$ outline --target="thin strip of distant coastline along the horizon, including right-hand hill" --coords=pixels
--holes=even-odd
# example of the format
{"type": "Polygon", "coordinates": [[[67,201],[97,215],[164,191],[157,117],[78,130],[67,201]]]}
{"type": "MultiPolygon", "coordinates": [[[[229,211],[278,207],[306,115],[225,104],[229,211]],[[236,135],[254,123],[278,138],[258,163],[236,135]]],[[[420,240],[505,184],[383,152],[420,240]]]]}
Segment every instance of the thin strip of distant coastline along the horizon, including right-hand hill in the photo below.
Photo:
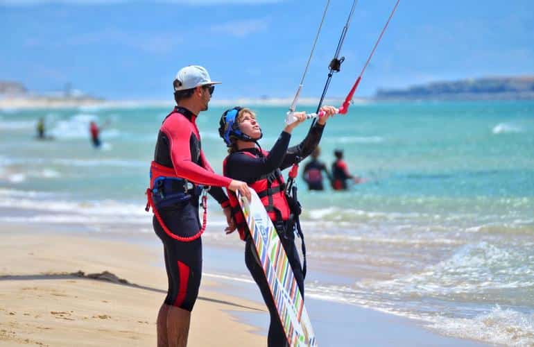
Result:
{"type": "MultiPolygon", "coordinates": [[[[331,97],[326,105],[341,105],[345,97],[331,97]]],[[[379,89],[374,96],[358,97],[356,104],[384,102],[426,102],[426,101],[520,101],[534,100],[534,76],[496,76],[465,78],[456,81],[438,81],[422,85],[412,85],[398,89],[379,89]]],[[[288,97],[236,97],[211,101],[214,106],[278,106],[288,107],[293,96],[288,97]]],[[[314,107],[318,97],[300,98],[298,105],[314,107]]],[[[10,108],[136,108],[143,106],[172,107],[171,96],[165,100],[106,100],[82,92],[43,95],[28,92],[18,82],[0,81],[0,109],[10,108]]]]}

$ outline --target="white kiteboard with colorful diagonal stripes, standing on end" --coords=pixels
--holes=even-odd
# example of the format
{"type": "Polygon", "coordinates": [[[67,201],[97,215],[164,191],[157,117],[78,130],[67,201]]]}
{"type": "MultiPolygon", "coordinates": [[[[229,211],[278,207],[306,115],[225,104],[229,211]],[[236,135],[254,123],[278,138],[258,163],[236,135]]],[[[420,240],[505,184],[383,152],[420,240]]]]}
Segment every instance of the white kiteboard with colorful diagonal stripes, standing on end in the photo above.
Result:
{"type": "Polygon", "coordinates": [[[275,226],[256,192],[250,189],[250,194],[249,203],[238,193],[239,205],[252,233],[289,346],[317,346],[304,300],[275,226]]]}

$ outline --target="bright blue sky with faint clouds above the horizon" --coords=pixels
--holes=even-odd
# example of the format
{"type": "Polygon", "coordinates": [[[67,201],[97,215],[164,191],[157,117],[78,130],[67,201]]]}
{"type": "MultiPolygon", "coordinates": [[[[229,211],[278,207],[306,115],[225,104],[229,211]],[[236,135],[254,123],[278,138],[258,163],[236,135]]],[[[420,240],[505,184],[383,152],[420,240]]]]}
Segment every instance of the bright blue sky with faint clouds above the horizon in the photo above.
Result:
{"type": "MultiPolygon", "coordinates": [[[[203,65],[215,98],[291,97],[327,1],[0,0],[0,81],[66,83],[106,99],[172,99],[178,69],[203,65]]],[[[330,97],[359,75],[394,0],[359,0],[330,97]]],[[[331,0],[302,96],[318,97],[352,0],[331,0]]],[[[401,0],[356,96],[379,88],[534,75],[534,1],[401,0]]]]}

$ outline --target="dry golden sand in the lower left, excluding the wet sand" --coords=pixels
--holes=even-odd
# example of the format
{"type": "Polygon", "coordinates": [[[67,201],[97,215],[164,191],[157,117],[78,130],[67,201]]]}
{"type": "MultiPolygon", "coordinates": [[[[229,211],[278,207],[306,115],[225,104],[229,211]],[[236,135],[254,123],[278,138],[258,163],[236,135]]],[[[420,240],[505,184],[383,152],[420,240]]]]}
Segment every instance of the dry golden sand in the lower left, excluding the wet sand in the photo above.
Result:
{"type": "MultiPolygon", "coordinates": [[[[155,319],[166,292],[164,271],[151,265],[158,254],[31,228],[2,227],[0,239],[0,346],[155,346],[155,319]],[[72,274],[77,271],[108,271],[128,284],[72,274]]],[[[263,346],[264,337],[229,312],[264,307],[216,293],[213,285],[203,280],[189,346],[263,346]]]]}

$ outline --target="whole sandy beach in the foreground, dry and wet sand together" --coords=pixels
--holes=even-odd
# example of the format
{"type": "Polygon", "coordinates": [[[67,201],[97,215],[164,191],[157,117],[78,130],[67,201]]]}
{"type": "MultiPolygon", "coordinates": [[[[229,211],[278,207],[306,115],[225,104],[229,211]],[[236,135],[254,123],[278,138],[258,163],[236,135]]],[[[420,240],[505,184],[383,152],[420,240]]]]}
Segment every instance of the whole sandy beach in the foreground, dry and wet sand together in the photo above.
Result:
{"type": "MultiPolygon", "coordinates": [[[[2,226],[0,346],[155,346],[166,276],[147,239],[2,226]]],[[[221,249],[205,247],[208,262],[228,255],[221,249]]],[[[253,282],[205,273],[188,346],[265,346],[259,301],[253,282]]],[[[355,305],[309,298],[307,307],[322,346],[482,346],[355,305]]]]}

